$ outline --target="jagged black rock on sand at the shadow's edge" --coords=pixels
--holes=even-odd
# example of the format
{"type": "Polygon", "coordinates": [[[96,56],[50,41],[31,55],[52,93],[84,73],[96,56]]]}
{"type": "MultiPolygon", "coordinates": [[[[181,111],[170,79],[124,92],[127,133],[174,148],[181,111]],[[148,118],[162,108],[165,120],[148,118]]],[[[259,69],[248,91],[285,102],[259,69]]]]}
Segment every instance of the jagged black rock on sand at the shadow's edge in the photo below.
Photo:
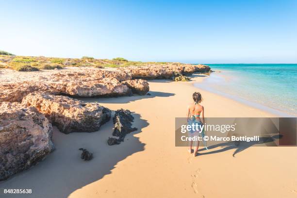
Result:
{"type": "Polygon", "coordinates": [[[113,135],[119,137],[120,141],[124,141],[126,134],[137,130],[137,128],[132,128],[133,119],[134,117],[129,110],[119,109],[115,111],[113,135]]]}

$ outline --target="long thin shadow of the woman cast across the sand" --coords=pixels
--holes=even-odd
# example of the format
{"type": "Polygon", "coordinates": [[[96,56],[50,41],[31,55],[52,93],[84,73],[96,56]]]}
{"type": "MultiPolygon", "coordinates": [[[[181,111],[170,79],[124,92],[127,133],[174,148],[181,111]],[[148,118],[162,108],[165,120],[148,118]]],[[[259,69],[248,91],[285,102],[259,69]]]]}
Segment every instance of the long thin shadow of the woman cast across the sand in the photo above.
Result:
{"type": "MultiPolygon", "coordinates": [[[[209,155],[209,154],[214,154],[214,153],[219,153],[219,152],[224,152],[230,149],[235,149],[235,151],[233,152],[233,157],[235,157],[235,154],[249,148],[252,146],[260,146],[260,144],[264,144],[263,146],[276,146],[275,144],[275,140],[280,139],[282,136],[281,135],[274,135],[274,136],[270,136],[270,137],[260,137],[259,141],[250,141],[250,142],[246,142],[246,141],[231,141],[231,142],[224,142],[224,143],[220,143],[220,144],[216,144],[216,145],[212,145],[207,147],[208,149],[213,149],[213,148],[218,148],[221,147],[221,149],[218,150],[213,150],[213,151],[208,151],[208,152],[204,152],[204,153],[198,153],[198,155],[209,155]]],[[[198,149],[199,151],[203,151],[206,150],[206,148],[201,148],[198,149]]]]}

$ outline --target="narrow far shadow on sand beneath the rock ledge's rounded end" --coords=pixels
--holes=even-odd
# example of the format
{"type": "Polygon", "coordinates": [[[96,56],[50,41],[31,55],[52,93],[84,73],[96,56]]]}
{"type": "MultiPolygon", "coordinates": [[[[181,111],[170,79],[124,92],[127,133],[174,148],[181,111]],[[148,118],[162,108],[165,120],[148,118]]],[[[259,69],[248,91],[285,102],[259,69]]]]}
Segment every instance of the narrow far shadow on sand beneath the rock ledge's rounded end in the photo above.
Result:
{"type": "Polygon", "coordinates": [[[123,97],[118,97],[118,98],[77,97],[75,99],[79,99],[84,102],[124,104],[124,103],[129,103],[132,101],[136,101],[139,99],[150,99],[150,98],[155,98],[155,97],[170,97],[170,96],[175,95],[173,93],[166,93],[166,92],[159,92],[159,91],[149,91],[148,93],[150,95],[139,96],[139,95],[134,94],[133,96],[123,96],[123,97]]]}

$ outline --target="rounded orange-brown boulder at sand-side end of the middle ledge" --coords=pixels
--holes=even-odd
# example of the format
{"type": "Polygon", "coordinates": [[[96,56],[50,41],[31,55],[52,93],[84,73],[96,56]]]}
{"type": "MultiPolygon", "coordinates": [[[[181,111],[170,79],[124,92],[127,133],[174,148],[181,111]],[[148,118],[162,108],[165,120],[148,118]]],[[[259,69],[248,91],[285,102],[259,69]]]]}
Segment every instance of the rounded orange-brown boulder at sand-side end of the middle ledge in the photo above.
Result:
{"type": "Polygon", "coordinates": [[[133,94],[146,95],[149,91],[148,82],[142,79],[128,80],[122,83],[131,88],[133,94]]]}

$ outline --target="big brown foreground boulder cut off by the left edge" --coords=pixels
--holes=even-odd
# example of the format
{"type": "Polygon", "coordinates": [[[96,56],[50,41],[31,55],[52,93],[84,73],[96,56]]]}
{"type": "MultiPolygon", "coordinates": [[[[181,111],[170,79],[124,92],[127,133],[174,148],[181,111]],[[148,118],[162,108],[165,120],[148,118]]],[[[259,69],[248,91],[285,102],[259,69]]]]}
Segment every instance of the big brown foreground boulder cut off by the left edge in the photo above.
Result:
{"type": "Polygon", "coordinates": [[[0,103],[0,181],[35,165],[53,149],[49,120],[35,107],[0,103]]]}

